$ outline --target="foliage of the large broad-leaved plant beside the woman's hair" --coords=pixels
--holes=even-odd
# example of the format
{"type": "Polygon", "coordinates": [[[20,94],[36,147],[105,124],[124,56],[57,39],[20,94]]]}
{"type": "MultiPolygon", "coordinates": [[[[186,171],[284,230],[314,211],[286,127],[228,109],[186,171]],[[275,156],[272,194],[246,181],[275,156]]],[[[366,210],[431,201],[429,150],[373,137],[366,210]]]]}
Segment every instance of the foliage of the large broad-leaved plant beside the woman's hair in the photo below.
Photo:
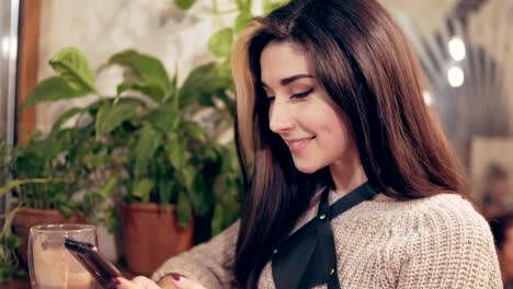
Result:
{"type": "Polygon", "coordinates": [[[176,74],[169,78],[157,58],[125,50],[102,67],[124,67],[116,95],[99,92],[86,57],[76,48],[57,53],[50,65],[58,76],[41,82],[24,106],[96,95],[90,105],[67,111],[50,132],[77,131],[75,154],[80,158],[73,164],[81,169],[81,178],[103,173],[103,187],[90,189],[83,198],[93,217],[115,190],[123,193],[124,204],[163,205],[159,210],[172,205],[181,227],[193,216],[213,212],[212,228],[218,232],[237,218],[240,190],[233,143],[218,142],[223,128],[232,123],[235,107],[227,94],[231,81],[225,63],[197,67],[179,85],[176,74]],[[206,108],[214,125],[194,120],[206,108]],[[71,128],[62,128],[71,118],[77,118],[71,128]]]}

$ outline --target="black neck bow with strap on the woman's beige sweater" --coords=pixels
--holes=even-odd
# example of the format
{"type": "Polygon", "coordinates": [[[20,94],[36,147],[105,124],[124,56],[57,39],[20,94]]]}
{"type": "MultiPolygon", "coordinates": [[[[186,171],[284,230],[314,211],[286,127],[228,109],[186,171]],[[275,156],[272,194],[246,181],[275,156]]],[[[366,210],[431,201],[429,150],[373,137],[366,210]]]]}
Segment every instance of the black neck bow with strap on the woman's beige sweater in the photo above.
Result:
{"type": "Polygon", "coordinates": [[[340,288],[337,251],[330,221],[364,200],[377,195],[368,182],[352,190],[331,207],[327,187],[317,217],[278,243],[272,256],[273,278],[277,289],[311,288],[328,284],[340,288]]]}

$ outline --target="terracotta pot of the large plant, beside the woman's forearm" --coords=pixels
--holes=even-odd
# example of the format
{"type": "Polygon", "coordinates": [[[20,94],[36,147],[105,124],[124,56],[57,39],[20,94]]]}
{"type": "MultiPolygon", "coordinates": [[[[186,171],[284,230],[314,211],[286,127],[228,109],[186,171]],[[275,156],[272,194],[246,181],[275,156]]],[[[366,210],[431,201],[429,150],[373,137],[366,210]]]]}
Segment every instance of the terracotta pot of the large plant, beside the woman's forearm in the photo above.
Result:
{"type": "Polygon", "coordinates": [[[122,204],[123,241],[128,269],[150,276],[168,258],[193,245],[194,221],[179,226],[175,206],[122,204]]]}

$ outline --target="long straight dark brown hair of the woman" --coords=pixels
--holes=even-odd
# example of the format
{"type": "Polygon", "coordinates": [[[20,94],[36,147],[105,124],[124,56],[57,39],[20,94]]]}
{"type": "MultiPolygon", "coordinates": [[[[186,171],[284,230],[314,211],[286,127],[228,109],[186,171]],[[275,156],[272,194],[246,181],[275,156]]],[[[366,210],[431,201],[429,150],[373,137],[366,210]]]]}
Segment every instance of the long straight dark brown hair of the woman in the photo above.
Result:
{"type": "Polygon", "coordinates": [[[269,128],[260,56],[270,43],[300,47],[317,81],[350,119],[368,180],[398,199],[467,193],[466,178],[423,101],[408,41],[375,0],[297,0],[253,20],[233,49],[236,138],[247,183],[236,250],[239,285],[256,287],[273,246],[289,234],[328,169],[298,172],[269,128]]]}

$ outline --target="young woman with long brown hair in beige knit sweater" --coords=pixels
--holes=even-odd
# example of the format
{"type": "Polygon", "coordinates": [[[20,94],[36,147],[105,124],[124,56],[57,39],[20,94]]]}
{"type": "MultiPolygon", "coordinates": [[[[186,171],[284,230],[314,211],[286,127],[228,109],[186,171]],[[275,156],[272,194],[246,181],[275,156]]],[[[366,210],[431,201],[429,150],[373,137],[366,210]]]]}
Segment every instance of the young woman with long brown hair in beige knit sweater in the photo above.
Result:
{"type": "MultiPolygon", "coordinates": [[[[153,275],[176,288],[500,288],[486,220],[375,0],[296,0],[233,49],[240,221],[153,275]]],[[[157,288],[138,277],[121,288],[157,288]]]]}

